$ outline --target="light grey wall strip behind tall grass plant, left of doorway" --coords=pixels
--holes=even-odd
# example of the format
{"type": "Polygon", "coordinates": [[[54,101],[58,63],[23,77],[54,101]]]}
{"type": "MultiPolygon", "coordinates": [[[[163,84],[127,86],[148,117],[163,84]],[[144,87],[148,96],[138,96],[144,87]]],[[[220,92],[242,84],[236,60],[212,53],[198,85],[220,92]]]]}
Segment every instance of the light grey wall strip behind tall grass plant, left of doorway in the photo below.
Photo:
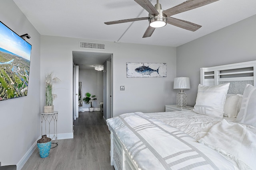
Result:
{"type": "MultiPolygon", "coordinates": [[[[41,111],[44,111],[44,79],[47,72],[54,72],[61,82],[55,85],[54,110],[58,111],[58,139],[62,135],[73,137],[73,60],[72,47],[76,41],[66,41],[64,37],[41,35],[41,111]]],[[[64,137],[66,138],[66,137],[64,137]]]]}

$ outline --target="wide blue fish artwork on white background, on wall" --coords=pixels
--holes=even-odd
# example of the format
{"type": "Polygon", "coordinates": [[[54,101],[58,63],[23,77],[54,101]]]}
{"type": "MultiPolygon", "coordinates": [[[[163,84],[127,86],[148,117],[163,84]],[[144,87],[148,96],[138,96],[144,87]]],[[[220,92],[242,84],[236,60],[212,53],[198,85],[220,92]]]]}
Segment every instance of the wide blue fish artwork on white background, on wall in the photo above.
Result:
{"type": "Polygon", "coordinates": [[[166,63],[126,63],[127,77],[166,77],[166,63]]]}

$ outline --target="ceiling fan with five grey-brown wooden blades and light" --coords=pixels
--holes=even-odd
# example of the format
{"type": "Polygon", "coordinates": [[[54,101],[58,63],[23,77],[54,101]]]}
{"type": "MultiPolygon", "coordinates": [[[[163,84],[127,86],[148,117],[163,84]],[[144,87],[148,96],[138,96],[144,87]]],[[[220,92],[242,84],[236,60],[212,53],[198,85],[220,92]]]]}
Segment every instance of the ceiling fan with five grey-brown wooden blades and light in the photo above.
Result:
{"type": "Polygon", "coordinates": [[[137,2],[142,8],[144,8],[148,12],[148,17],[116,20],[116,21],[109,21],[104,23],[107,25],[111,25],[116,23],[148,20],[149,25],[142,38],[150,37],[156,28],[164,27],[166,23],[175,25],[183,29],[187,29],[189,31],[196,31],[202,26],[189,21],[172,18],[170,16],[173,16],[175,14],[179,14],[181,12],[185,12],[188,10],[192,10],[192,9],[210,4],[212,2],[216,2],[218,0],[187,0],[186,2],[183,2],[172,8],[169,8],[168,10],[162,10],[162,6],[161,4],[159,4],[159,0],[157,0],[155,6],[153,6],[149,0],[134,0],[134,1],[137,2]]]}

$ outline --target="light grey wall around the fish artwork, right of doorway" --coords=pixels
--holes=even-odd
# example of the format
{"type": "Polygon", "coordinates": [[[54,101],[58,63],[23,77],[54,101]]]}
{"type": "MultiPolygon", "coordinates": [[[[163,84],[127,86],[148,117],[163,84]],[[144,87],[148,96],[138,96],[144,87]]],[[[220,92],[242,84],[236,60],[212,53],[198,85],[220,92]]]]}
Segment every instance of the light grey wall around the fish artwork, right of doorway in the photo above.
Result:
{"type": "Polygon", "coordinates": [[[153,45],[116,44],[113,52],[113,115],[142,111],[164,111],[176,103],[176,48],[153,45]],[[127,78],[126,63],[166,63],[167,77],[127,78]],[[120,91],[125,86],[125,91],[120,91]]]}

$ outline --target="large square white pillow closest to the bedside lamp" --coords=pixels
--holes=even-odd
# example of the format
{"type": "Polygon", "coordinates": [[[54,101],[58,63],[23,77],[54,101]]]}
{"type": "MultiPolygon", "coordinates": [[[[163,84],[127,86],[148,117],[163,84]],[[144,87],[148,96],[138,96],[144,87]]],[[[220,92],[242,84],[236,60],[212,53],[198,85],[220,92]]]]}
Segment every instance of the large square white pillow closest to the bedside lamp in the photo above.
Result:
{"type": "Polygon", "coordinates": [[[224,103],[230,83],[216,86],[198,85],[196,105],[193,111],[198,114],[212,117],[223,117],[224,103]]]}

